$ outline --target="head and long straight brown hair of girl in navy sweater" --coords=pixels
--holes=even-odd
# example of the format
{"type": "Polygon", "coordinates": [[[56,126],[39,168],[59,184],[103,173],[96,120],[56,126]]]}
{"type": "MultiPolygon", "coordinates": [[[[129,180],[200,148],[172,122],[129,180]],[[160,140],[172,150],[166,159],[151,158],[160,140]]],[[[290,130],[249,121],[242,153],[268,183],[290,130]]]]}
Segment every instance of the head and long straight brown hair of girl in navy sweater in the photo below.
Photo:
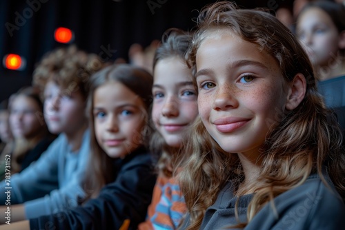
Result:
{"type": "MultiPolygon", "coordinates": [[[[132,158],[136,154],[131,153],[138,149],[147,152],[148,109],[152,102],[148,87],[152,82],[152,76],[140,67],[121,64],[92,76],[90,95],[93,98],[90,96],[88,100],[92,154],[84,182],[91,198],[97,197],[104,185],[123,179],[124,175],[118,175],[119,169],[114,167],[114,159],[116,162],[132,158]]],[[[137,179],[131,179],[133,187],[137,179]]]]}

